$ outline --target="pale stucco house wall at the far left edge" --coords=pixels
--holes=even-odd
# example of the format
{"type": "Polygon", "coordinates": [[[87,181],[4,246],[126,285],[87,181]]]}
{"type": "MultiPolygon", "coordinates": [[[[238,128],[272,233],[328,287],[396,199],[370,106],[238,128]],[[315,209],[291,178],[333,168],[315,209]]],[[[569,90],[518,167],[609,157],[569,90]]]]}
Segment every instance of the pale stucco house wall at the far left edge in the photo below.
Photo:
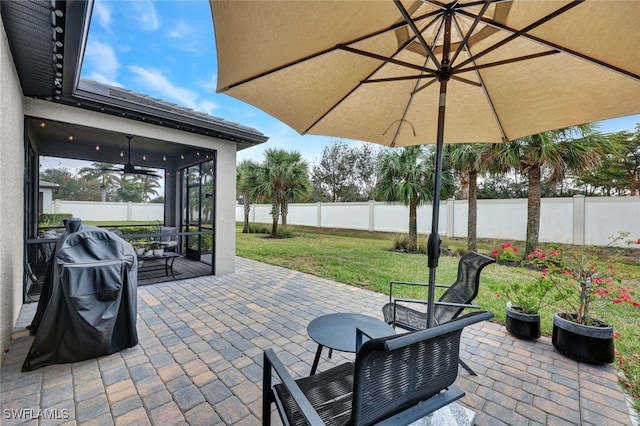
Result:
{"type": "Polygon", "coordinates": [[[24,110],[0,20],[0,357],[22,306],[24,110]]]}

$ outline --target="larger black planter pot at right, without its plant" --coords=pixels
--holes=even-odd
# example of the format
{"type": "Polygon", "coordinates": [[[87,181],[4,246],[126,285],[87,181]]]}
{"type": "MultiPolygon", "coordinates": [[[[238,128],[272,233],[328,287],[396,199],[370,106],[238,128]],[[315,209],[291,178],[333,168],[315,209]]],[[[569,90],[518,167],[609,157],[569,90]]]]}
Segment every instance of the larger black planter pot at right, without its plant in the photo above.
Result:
{"type": "Polygon", "coordinates": [[[553,346],[558,352],[587,364],[611,364],[614,360],[613,327],[593,327],[570,321],[574,314],[553,316],[553,346]]]}

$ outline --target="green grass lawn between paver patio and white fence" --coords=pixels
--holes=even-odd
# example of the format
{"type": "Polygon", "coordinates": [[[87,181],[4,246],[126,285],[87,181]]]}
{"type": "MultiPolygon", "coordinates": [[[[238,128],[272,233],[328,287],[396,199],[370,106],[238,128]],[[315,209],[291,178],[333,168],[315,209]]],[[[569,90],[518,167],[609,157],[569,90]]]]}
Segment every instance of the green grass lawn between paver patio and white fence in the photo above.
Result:
{"type": "MultiPolygon", "coordinates": [[[[289,228],[293,230],[293,238],[271,239],[265,238],[265,234],[242,234],[242,228],[238,226],[236,254],[384,294],[388,294],[390,280],[428,280],[425,255],[389,250],[392,234],[310,227],[289,228]]],[[[478,251],[489,255],[502,242],[479,241],[478,251]]],[[[466,240],[445,238],[443,246],[453,252],[463,252],[466,240]]],[[[524,248],[524,244],[520,243],[520,247],[524,248]]],[[[636,250],[636,255],[625,258],[624,262],[616,268],[635,277],[632,294],[636,300],[640,300],[640,250],[636,250]]],[[[457,265],[458,257],[441,257],[437,269],[438,283],[453,283],[457,265]]],[[[482,285],[476,303],[482,309],[493,312],[496,321],[504,323],[506,301],[497,296],[501,293],[500,289],[515,280],[536,276],[538,272],[525,268],[489,265],[482,272],[482,285]]],[[[418,294],[411,296],[425,297],[418,294]]],[[[545,335],[551,335],[555,311],[557,309],[548,307],[541,312],[545,335]]],[[[620,333],[616,340],[616,351],[619,352],[616,365],[621,375],[620,382],[634,396],[635,406],[640,409],[640,309],[624,306],[612,312],[607,320],[620,333]]]]}

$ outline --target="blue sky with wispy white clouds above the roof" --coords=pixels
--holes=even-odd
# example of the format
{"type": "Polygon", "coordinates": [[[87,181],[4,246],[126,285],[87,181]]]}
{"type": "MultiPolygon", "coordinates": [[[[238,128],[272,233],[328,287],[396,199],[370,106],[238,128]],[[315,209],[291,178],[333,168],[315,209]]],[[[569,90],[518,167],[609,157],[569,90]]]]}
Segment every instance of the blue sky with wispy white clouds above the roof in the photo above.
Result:
{"type": "MultiPolygon", "coordinates": [[[[259,109],[217,94],[216,73],[207,1],[95,1],[82,78],[235,121],[270,137],[266,144],[240,151],[238,160],[261,160],[264,149],[283,148],[300,151],[313,163],[322,148],[335,140],[302,137],[259,109]]],[[[640,115],[602,122],[600,129],[633,130],[636,123],[640,115]]]]}

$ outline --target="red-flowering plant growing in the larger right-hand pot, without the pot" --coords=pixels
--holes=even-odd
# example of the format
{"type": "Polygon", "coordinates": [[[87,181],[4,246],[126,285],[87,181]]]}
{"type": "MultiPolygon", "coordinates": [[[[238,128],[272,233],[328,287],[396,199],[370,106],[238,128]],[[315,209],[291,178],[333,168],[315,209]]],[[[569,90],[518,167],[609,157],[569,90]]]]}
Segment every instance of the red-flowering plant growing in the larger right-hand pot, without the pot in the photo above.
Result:
{"type": "MultiPolygon", "coordinates": [[[[609,238],[607,249],[620,246],[628,233],[620,232],[609,238]]],[[[636,241],[627,240],[628,245],[636,241]]],[[[634,299],[638,280],[619,274],[615,264],[621,249],[597,250],[596,247],[577,248],[569,255],[560,250],[543,252],[536,249],[528,257],[531,265],[543,267],[543,274],[554,284],[554,299],[562,302],[566,311],[559,313],[566,320],[594,327],[605,325],[602,321],[612,307],[640,308],[634,299]],[[602,253],[610,253],[602,257],[602,253]],[[635,286],[635,289],[634,289],[635,286]]]]}

